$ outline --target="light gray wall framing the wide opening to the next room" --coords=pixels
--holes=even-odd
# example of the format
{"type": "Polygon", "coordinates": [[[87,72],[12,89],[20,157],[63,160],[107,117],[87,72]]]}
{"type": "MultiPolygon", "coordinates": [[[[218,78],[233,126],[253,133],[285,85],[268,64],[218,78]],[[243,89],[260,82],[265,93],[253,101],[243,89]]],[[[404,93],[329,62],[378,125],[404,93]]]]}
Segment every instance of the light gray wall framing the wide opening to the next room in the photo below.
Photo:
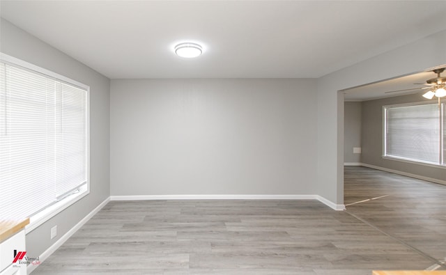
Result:
{"type": "Polygon", "coordinates": [[[445,49],[446,30],[318,79],[317,194],[344,202],[344,95],[339,91],[446,64],[445,49]]]}

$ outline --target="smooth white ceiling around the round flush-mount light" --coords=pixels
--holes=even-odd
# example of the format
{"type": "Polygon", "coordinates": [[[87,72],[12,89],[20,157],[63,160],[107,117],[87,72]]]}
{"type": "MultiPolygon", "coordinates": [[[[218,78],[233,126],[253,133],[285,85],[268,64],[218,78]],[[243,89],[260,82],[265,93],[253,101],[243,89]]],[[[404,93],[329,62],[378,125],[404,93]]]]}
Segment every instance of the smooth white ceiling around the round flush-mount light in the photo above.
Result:
{"type": "Polygon", "coordinates": [[[0,1],[111,79],[321,77],[445,29],[446,1],[0,1]],[[177,42],[204,47],[179,58],[177,42]]]}

